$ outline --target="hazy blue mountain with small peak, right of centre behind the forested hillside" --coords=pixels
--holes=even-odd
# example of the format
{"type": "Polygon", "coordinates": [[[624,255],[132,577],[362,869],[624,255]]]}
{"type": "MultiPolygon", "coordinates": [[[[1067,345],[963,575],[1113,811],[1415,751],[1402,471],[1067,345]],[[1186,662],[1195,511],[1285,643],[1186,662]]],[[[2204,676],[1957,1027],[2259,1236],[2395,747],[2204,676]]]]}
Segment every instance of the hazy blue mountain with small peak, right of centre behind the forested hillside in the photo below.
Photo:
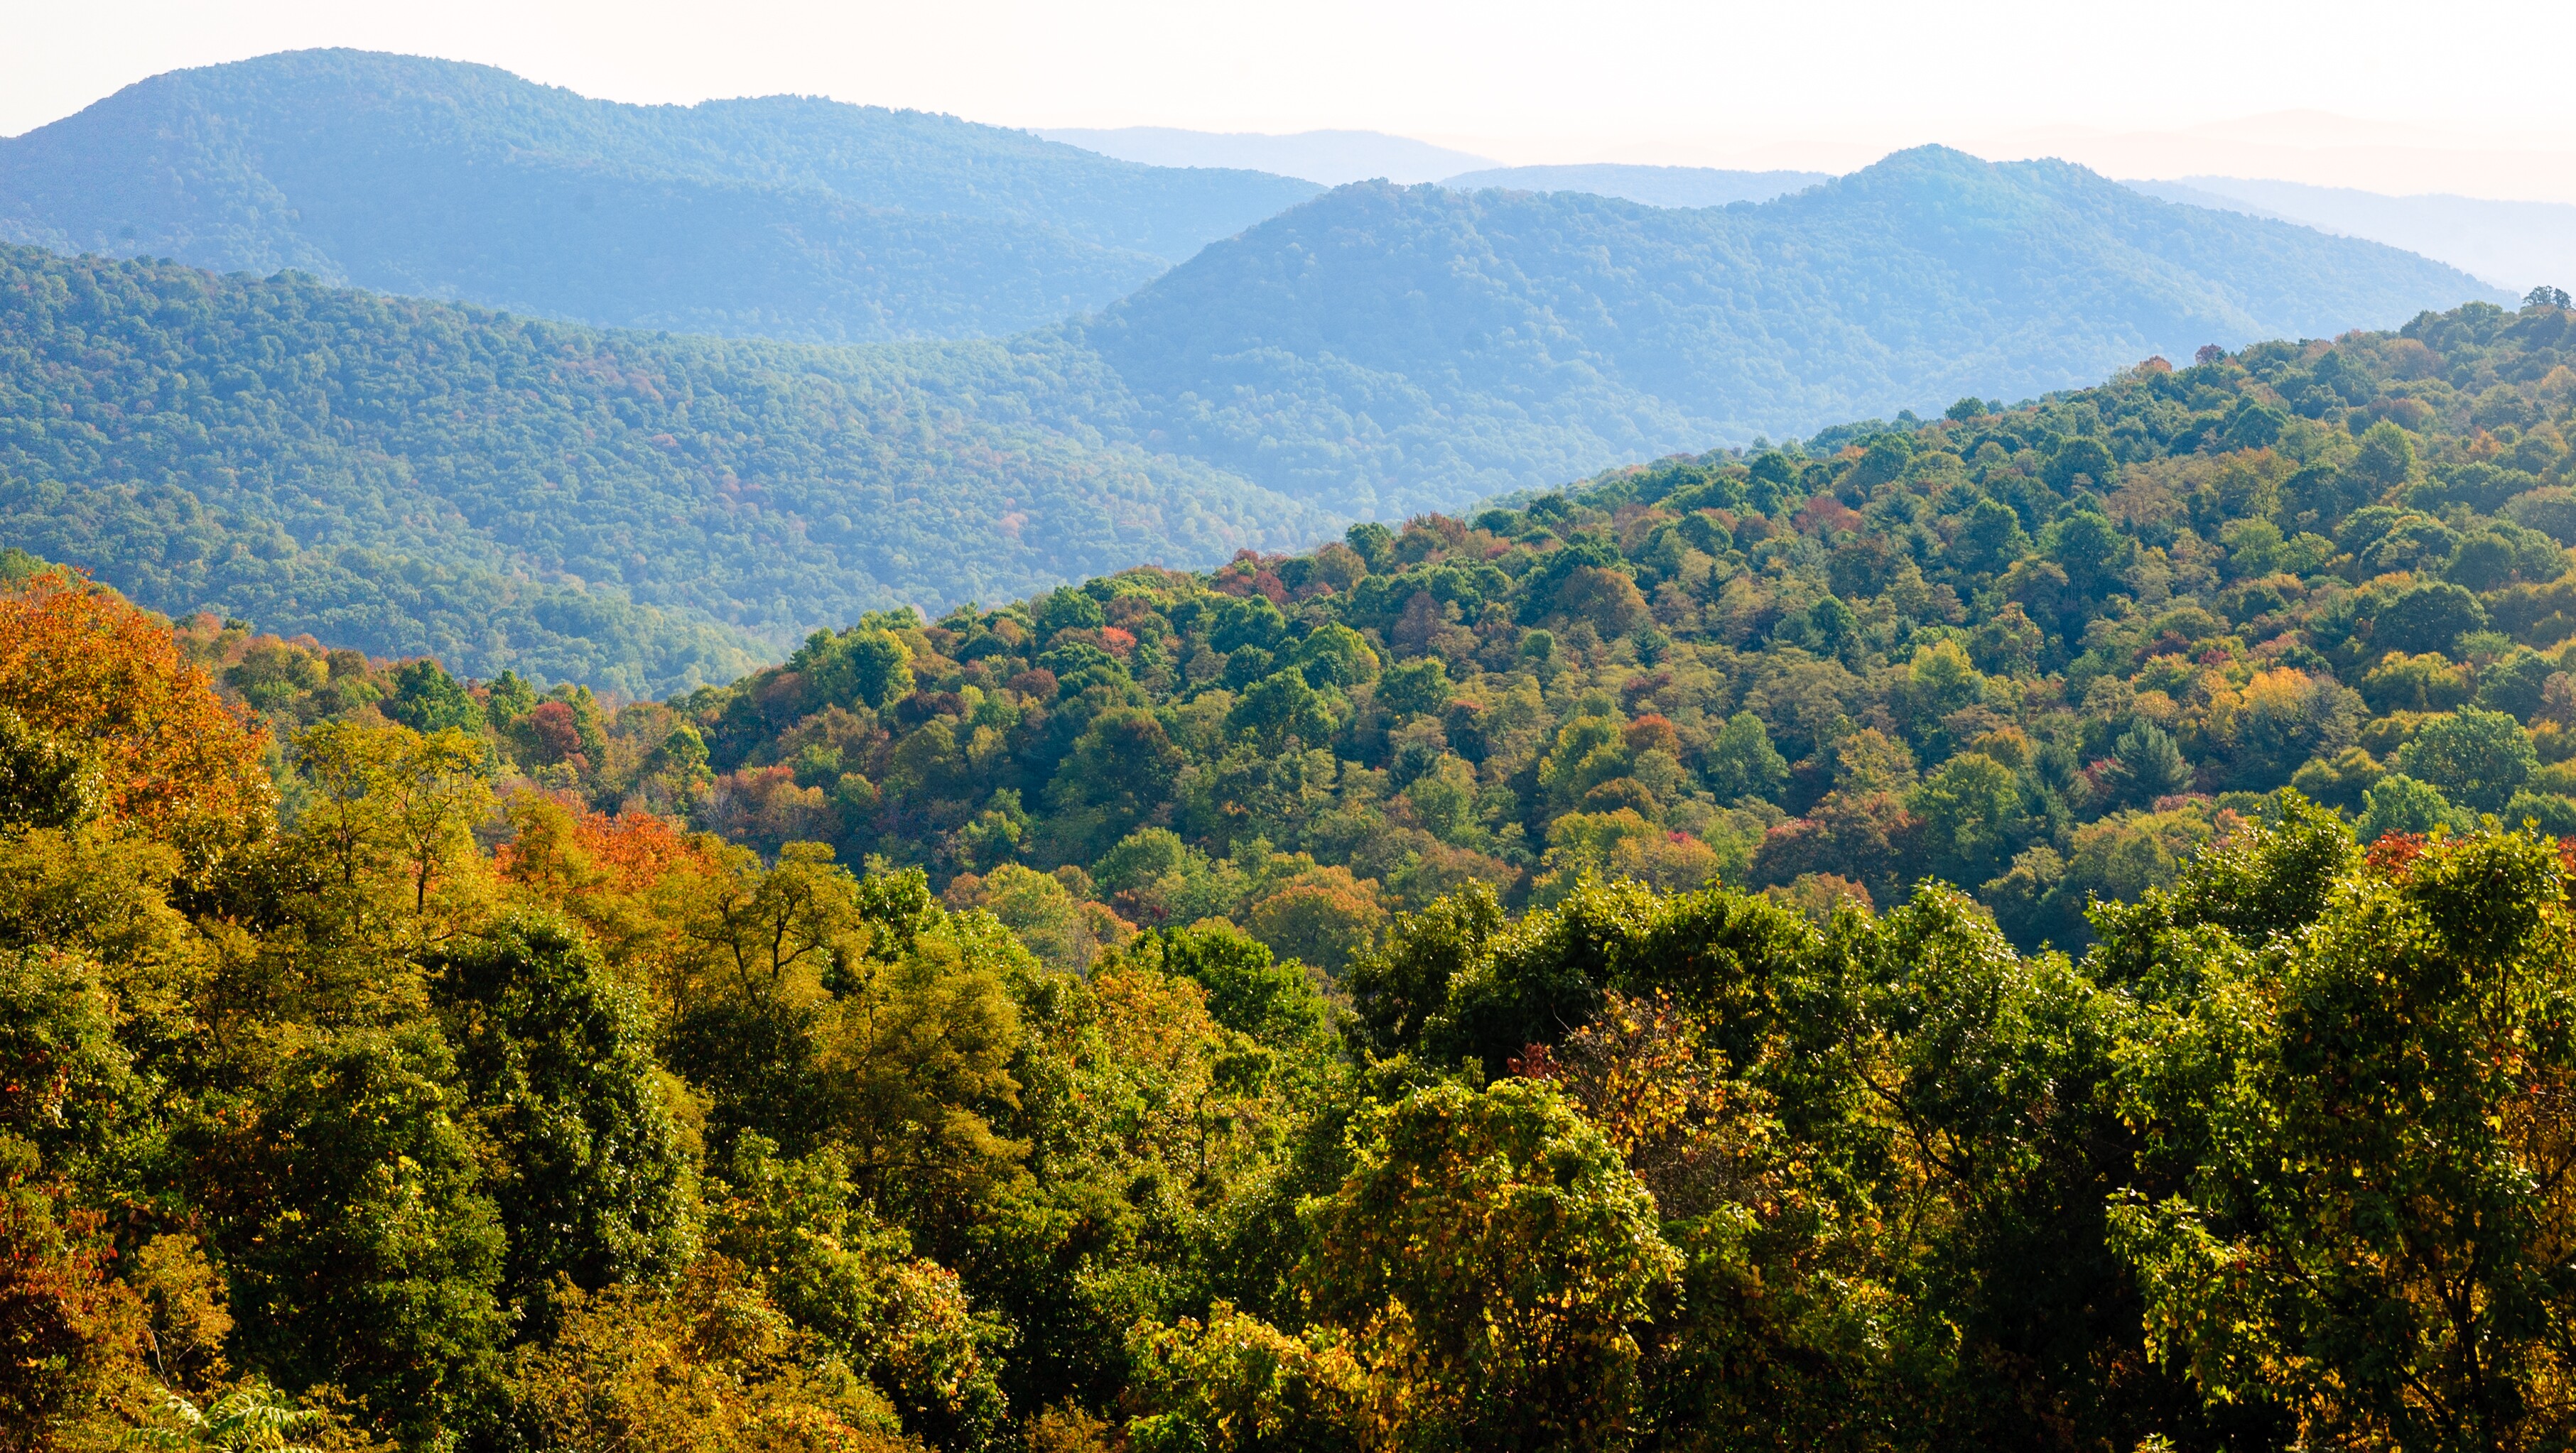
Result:
{"type": "Polygon", "coordinates": [[[2468,273],[1922,147],[1762,206],[1347,185],[1074,327],[1133,428],[1345,515],[1620,459],[2030,397],[2205,343],[2331,337],[2468,273]]]}

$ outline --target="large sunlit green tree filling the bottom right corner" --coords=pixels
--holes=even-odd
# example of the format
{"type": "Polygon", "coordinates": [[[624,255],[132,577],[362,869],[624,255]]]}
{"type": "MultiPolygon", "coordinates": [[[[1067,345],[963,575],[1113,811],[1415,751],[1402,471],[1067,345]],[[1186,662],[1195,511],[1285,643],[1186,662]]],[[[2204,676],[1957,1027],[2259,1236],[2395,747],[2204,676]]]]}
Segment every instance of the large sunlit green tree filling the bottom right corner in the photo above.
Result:
{"type": "Polygon", "coordinates": [[[2563,871],[2522,835],[2344,878],[2277,958],[2208,961],[2141,1025],[2136,1110],[2190,1149],[2117,1247],[2148,1345],[2303,1443],[2548,1448],[2576,1288],[2563,871]]]}

